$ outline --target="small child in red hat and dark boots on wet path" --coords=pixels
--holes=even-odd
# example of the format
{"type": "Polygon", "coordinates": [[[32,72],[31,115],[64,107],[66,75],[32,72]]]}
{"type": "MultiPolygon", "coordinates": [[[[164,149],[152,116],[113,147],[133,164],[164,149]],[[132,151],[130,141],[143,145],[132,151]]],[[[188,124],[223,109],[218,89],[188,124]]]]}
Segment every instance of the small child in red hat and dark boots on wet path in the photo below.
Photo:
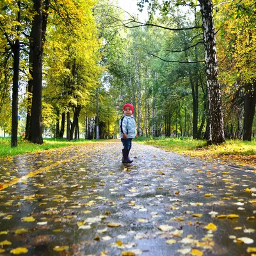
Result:
{"type": "Polygon", "coordinates": [[[132,116],[132,104],[124,104],[123,113],[124,116],[119,120],[120,138],[124,146],[124,148],[122,149],[122,163],[132,163],[133,160],[129,158],[129,152],[132,147],[132,139],[137,138],[135,127],[136,124],[134,117],[132,116]]]}

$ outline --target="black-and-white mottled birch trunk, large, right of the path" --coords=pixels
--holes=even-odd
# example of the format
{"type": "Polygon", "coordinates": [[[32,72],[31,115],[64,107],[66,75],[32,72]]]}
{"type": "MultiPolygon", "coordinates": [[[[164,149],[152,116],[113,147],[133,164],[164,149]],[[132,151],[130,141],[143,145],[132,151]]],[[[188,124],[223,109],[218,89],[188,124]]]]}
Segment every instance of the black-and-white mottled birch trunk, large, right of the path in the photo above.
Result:
{"type": "Polygon", "coordinates": [[[202,29],[205,45],[205,68],[209,102],[209,140],[208,144],[218,144],[225,141],[223,113],[221,106],[221,90],[218,81],[218,65],[216,38],[212,17],[212,1],[199,0],[202,13],[202,29]]]}

